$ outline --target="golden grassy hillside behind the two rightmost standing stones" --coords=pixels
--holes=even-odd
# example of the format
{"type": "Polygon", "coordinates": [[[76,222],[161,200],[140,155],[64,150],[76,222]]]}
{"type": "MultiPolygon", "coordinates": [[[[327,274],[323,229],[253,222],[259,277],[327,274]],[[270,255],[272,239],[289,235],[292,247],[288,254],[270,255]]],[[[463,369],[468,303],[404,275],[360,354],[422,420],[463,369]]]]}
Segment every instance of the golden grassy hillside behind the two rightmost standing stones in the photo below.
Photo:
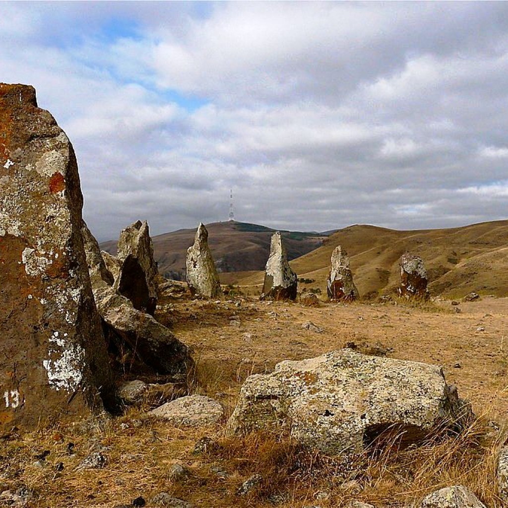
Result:
{"type": "MultiPolygon", "coordinates": [[[[433,295],[461,296],[477,291],[508,296],[508,220],[462,228],[394,231],[375,226],[338,230],[323,246],[291,263],[299,277],[315,279],[308,288],[326,288],[330,256],[342,245],[351,257],[362,295],[383,293],[399,282],[398,261],[405,251],[423,258],[433,295]]],[[[263,273],[230,274],[228,282],[261,283],[263,273]]]]}

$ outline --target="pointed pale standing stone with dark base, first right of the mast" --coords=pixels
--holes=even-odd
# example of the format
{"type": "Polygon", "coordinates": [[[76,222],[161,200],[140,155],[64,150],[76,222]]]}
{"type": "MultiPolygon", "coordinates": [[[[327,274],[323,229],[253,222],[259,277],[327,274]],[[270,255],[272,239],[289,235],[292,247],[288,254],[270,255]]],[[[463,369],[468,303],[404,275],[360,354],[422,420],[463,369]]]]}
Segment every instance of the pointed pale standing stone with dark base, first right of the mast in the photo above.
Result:
{"type": "Polygon", "coordinates": [[[272,235],[270,243],[261,299],[295,300],[297,287],[296,273],[289,266],[282,237],[277,231],[272,235]]]}

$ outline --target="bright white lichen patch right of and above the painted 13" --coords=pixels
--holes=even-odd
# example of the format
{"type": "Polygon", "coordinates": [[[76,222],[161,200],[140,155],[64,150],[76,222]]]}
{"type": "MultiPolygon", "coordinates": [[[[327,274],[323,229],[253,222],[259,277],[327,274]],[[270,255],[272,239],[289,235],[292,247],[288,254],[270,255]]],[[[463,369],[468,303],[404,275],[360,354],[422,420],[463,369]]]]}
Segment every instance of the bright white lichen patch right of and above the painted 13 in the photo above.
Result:
{"type": "Polygon", "coordinates": [[[50,347],[49,356],[59,358],[43,360],[42,364],[48,374],[49,385],[56,391],[75,392],[83,379],[85,352],[78,344],[67,343],[68,334],[53,332],[49,341],[56,344],[60,351],[50,347]]]}

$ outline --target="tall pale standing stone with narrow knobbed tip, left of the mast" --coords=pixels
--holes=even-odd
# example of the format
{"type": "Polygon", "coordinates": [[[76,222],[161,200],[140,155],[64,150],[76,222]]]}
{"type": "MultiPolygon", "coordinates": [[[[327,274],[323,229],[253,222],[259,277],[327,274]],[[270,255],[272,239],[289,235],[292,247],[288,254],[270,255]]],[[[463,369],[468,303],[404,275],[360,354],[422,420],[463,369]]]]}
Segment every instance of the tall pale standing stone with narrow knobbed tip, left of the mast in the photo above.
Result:
{"type": "Polygon", "coordinates": [[[199,223],[194,245],[187,249],[187,284],[192,295],[217,298],[223,294],[219,276],[208,246],[208,231],[199,223]]]}

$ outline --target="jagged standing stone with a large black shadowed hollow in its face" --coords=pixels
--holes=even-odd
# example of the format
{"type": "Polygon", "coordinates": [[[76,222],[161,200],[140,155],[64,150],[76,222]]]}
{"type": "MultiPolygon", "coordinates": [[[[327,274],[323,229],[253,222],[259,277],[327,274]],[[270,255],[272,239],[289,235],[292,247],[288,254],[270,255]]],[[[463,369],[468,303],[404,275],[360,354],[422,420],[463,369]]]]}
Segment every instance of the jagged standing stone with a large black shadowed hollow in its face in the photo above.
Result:
{"type": "Polygon", "coordinates": [[[152,314],[157,305],[157,264],[146,220],[125,228],[118,239],[120,273],[115,289],[129,298],[134,308],[152,314]]]}

